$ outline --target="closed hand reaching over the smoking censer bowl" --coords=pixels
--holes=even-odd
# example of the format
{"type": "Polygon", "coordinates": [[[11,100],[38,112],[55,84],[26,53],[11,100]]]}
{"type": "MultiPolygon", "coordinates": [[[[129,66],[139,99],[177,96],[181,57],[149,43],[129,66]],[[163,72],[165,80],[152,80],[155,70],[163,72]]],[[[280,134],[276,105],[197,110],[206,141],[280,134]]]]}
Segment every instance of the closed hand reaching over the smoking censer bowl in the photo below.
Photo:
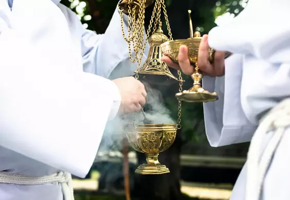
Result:
{"type": "Polygon", "coordinates": [[[145,86],[136,78],[124,77],[114,79],[121,93],[121,105],[118,114],[140,111],[146,103],[145,86]]]}

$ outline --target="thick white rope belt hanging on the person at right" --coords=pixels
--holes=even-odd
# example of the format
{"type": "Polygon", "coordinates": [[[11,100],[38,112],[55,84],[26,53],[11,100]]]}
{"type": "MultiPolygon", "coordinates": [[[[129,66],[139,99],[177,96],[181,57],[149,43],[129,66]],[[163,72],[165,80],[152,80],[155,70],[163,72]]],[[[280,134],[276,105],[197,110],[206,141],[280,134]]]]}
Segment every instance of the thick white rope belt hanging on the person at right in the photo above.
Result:
{"type": "Polygon", "coordinates": [[[260,199],[266,171],[285,133],[285,129],[289,126],[290,99],[285,99],[262,119],[250,143],[247,157],[245,200],[260,199]],[[261,153],[263,139],[269,131],[274,131],[274,135],[261,153]]]}

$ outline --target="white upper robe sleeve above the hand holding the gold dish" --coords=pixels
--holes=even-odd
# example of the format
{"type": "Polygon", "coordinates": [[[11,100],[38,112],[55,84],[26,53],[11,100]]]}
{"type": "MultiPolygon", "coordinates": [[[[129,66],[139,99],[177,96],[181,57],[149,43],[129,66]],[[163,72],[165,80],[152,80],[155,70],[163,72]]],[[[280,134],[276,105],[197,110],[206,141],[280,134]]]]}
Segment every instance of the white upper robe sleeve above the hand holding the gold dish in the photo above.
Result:
{"type": "Polygon", "coordinates": [[[290,53],[290,27],[282,19],[290,17],[289,8],[287,0],[248,1],[229,24],[210,30],[209,46],[218,51],[254,55],[270,63],[288,63],[290,56],[285,55],[290,53]],[[269,31],[269,27],[279,28],[269,31]]]}

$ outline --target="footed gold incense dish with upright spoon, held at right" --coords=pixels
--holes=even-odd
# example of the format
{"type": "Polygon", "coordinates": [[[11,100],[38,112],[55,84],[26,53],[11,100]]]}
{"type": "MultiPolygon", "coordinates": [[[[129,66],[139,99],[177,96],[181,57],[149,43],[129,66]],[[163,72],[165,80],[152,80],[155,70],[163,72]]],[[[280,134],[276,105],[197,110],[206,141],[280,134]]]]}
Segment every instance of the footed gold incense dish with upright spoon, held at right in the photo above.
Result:
{"type": "MultiPolygon", "coordinates": [[[[182,45],[188,48],[188,58],[190,64],[194,66],[195,72],[191,75],[194,85],[189,90],[180,91],[176,94],[176,97],[180,101],[185,102],[212,102],[218,99],[218,94],[216,92],[209,92],[201,87],[201,80],[203,75],[199,71],[198,67],[198,51],[201,42],[201,34],[199,31],[194,33],[192,28],[192,21],[190,16],[191,11],[188,10],[189,15],[189,29],[190,38],[188,39],[177,39],[175,41],[169,41],[161,44],[161,50],[164,55],[170,57],[173,62],[178,63],[179,48],[182,45]]],[[[215,50],[209,48],[208,50],[208,61],[212,63],[214,61],[215,50]]],[[[225,57],[228,57],[230,53],[226,53],[225,57]]]]}

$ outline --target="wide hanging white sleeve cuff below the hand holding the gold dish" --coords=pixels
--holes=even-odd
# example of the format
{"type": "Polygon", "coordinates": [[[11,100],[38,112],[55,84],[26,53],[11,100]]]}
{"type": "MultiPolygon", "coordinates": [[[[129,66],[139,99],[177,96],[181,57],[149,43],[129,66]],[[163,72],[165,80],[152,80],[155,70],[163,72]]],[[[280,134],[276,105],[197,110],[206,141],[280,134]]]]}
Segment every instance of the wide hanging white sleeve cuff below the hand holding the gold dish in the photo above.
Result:
{"type": "Polygon", "coordinates": [[[241,106],[242,64],[243,56],[234,54],[226,59],[225,76],[203,78],[203,87],[219,95],[218,101],[204,103],[206,135],[213,147],[248,142],[256,129],[241,106]]]}

